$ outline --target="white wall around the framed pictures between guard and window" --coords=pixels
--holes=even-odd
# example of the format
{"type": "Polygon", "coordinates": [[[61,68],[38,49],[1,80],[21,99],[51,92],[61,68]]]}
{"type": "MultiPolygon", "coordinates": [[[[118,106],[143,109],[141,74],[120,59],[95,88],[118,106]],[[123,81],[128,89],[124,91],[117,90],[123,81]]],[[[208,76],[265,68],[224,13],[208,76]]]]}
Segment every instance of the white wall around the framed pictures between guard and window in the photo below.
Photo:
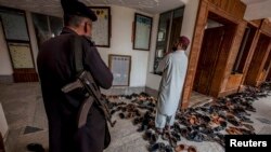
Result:
{"type": "MultiPolygon", "coordinates": [[[[106,64],[109,54],[131,55],[130,86],[145,86],[149,51],[132,50],[132,23],[136,10],[112,5],[112,39],[111,47],[99,47],[99,53],[106,64]]],[[[137,13],[142,13],[137,11],[137,13]]],[[[145,14],[145,13],[142,13],[145,14]]],[[[151,16],[150,14],[145,14],[151,16]]],[[[95,30],[95,29],[93,29],[95,30]]],[[[151,47],[153,50],[153,47],[151,47]]]]}

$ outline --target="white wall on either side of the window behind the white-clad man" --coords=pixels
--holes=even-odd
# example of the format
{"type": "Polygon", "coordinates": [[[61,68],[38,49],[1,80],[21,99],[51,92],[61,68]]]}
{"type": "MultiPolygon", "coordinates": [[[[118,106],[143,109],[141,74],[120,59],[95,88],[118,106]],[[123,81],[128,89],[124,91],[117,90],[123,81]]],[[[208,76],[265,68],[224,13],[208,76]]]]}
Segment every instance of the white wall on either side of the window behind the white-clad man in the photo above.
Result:
{"type": "MultiPolygon", "coordinates": [[[[192,42],[199,0],[181,0],[181,1],[185,3],[185,8],[184,8],[182,29],[181,29],[180,36],[186,36],[192,42]]],[[[158,23],[158,15],[155,15],[155,19],[158,23]]],[[[156,45],[157,27],[156,27],[155,32],[153,32],[153,34],[155,34],[153,36],[155,37],[155,41],[152,44],[153,47],[151,50],[151,54],[149,58],[150,66],[149,66],[149,72],[146,75],[146,86],[154,88],[154,89],[158,89],[162,77],[152,73],[153,64],[154,64],[155,45],[156,45]]],[[[188,47],[188,51],[186,51],[188,55],[190,53],[190,50],[191,50],[191,45],[188,47]]]]}

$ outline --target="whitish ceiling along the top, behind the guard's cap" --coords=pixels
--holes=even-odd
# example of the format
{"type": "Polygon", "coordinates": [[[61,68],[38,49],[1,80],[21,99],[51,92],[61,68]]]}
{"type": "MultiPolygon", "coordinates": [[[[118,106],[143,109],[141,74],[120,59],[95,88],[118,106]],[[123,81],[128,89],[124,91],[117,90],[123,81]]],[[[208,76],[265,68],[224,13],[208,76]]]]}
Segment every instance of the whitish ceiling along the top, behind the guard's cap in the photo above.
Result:
{"type": "MultiPolygon", "coordinates": [[[[150,14],[158,14],[183,5],[185,0],[79,0],[86,5],[121,5],[150,14]]],[[[62,15],[60,0],[0,0],[0,5],[38,12],[49,15],[62,15]]]]}

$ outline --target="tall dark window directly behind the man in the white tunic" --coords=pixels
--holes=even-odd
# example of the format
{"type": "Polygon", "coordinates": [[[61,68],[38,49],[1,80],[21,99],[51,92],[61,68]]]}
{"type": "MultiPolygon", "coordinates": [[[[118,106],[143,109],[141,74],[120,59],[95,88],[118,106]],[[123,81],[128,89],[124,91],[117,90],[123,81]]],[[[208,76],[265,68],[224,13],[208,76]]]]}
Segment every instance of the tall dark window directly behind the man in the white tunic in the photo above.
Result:
{"type": "Polygon", "coordinates": [[[154,58],[154,73],[159,61],[173,45],[173,41],[180,36],[182,28],[184,8],[162,13],[157,31],[156,51],[154,58]]]}

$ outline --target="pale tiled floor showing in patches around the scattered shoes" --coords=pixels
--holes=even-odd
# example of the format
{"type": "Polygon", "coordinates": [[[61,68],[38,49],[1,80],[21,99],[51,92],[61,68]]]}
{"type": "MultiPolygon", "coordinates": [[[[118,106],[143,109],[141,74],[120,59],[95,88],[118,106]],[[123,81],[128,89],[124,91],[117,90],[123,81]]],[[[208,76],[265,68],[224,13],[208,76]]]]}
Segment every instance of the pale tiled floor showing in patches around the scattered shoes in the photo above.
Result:
{"type": "MultiPolygon", "coordinates": [[[[121,89],[127,94],[144,91],[143,88],[121,89]]],[[[119,93],[119,91],[106,92],[106,94],[113,93],[119,93]]],[[[195,94],[192,99],[199,96],[202,95],[195,94]]],[[[39,83],[0,84],[0,102],[10,127],[7,152],[27,152],[25,147],[30,142],[42,143],[48,149],[47,116],[39,83]]],[[[254,106],[257,112],[253,113],[251,120],[255,122],[256,133],[271,134],[271,124],[267,123],[271,122],[271,96],[256,101],[254,106]]],[[[147,142],[136,129],[137,126],[133,126],[131,121],[118,120],[116,126],[111,128],[112,143],[105,152],[146,152],[147,142]]],[[[215,142],[192,142],[183,138],[180,142],[195,146],[198,152],[223,152],[223,149],[215,142]]]]}

